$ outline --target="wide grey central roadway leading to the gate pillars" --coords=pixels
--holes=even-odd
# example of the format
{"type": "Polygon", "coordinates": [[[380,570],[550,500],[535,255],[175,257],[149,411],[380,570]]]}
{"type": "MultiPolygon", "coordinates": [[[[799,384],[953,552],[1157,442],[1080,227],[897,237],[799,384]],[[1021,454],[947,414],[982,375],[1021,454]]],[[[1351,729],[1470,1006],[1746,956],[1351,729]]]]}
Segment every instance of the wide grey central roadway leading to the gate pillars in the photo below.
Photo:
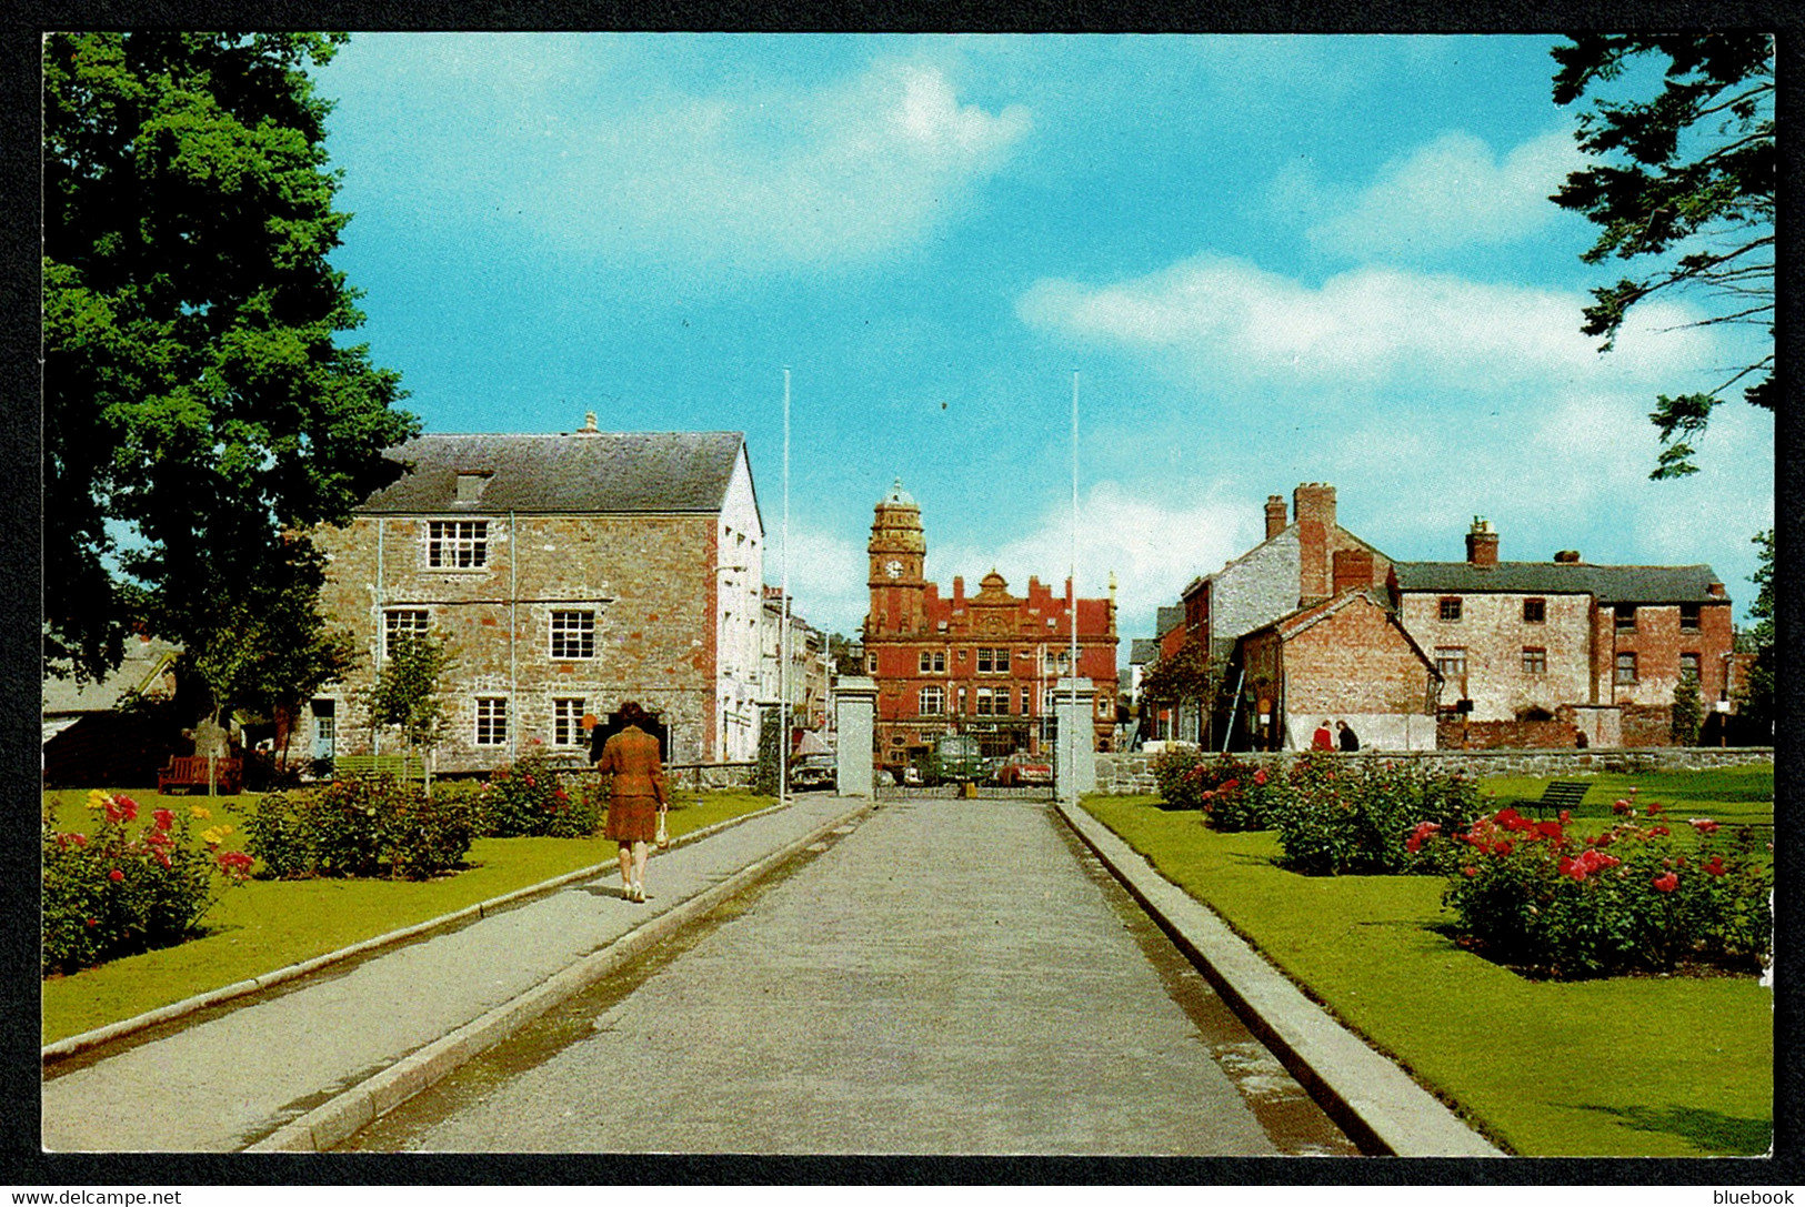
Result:
{"type": "Polygon", "coordinates": [[[592,1025],[572,1001],[354,1144],[1352,1151],[1146,931],[1043,803],[886,803],[592,1025]]]}

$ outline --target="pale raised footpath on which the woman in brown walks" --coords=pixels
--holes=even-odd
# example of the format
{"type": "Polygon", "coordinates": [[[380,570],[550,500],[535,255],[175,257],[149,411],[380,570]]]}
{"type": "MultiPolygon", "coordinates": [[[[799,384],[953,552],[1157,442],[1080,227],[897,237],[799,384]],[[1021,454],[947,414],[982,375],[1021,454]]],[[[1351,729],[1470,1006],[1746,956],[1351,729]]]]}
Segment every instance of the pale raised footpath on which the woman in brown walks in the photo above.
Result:
{"type": "MultiPolygon", "coordinates": [[[[507,1003],[592,951],[812,834],[859,801],[801,796],[652,861],[648,906],[619,873],[384,951],[227,1014],[49,1070],[49,1151],[231,1151],[507,1003]]],[[[596,844],[597,859],[605,846],[596,844]]]]}

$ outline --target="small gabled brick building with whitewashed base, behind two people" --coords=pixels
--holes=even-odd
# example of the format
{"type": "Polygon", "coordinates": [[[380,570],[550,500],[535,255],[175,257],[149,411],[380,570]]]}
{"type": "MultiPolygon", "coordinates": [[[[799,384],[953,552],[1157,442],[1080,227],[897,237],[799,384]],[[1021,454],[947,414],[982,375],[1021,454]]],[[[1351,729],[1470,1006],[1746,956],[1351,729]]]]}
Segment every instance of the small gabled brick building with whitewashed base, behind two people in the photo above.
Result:
{"type": "Polygon", "coordinates": [[[1347,590],[1236,642],[1235,745],[1307,749],[1319,722],[1347,722],[1363,749],[1435,749],[1440,675],[1381,590],[1347,590]]]}

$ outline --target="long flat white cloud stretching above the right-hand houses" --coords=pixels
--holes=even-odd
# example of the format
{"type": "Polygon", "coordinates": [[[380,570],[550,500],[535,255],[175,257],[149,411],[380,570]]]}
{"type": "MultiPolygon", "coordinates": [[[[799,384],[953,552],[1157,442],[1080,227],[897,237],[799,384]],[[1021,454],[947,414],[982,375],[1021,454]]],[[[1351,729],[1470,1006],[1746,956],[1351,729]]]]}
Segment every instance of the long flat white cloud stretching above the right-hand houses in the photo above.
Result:
{"type": "Polygon", "coordinates": [[[1587,298],[1404,269],[1361,267],[1312,289],[1206,253],[1117,285],[1041,280],[1016,303],[1031,327],[1144,352],[1197,381],[1264,377],[1298,388],[1433,379],[1495,392],[1532,381],[1650,377],[1689,366],[1708,343],[1653,307],[1597,355],[1579,334],[1587,298]],[[1634,345],[1634,350],[1632,350],[1634,345]]]}

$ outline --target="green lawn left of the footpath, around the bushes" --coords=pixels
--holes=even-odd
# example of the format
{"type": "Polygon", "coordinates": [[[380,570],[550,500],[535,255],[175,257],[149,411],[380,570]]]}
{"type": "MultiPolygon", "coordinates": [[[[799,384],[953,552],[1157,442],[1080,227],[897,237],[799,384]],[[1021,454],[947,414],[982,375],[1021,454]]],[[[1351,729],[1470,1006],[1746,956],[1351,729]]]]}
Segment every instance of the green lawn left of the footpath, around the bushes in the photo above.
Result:
{"type": "MultiPolygon", "coordinates": [[[[153,808],[200,805],[211,825],[233,825],[222,844],[244,844],[245,796],[171,796],[128,792],[139,817],[153,808]]],[[[88,825],[87,792],[47,792],[58,828],[88,825]]],[[[774,805],[773,797],[740,792],[682,792],[671,796],[673,837],[717,821],[774,805]]],[[[208,935],[179,947],[112,960],[74,976],[43,981],[42,1043],[78,1036],[276,969],[338,951],[388,931],[426,922],[491,897],[549,880],[565,871],[612,861],[616,848],[603,839],[477,839],[469,870],[426,882],[410,880],[253,880],[222,893],[206,917],[208,935]]]]}

